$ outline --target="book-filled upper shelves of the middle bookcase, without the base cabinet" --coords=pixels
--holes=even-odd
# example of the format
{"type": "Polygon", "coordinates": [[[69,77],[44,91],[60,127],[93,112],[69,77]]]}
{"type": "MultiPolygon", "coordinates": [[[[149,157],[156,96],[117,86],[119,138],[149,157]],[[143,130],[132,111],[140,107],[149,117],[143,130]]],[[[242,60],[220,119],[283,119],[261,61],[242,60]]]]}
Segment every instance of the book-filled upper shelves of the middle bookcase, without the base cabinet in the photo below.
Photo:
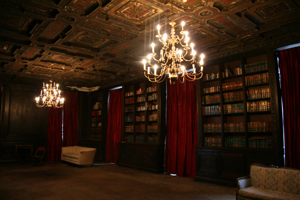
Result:
{"type": "Polygon", "coordinates": [[[123,142],[160,143],[158,88],[158,83],[146,81],[125,85],[123,142]]]}

